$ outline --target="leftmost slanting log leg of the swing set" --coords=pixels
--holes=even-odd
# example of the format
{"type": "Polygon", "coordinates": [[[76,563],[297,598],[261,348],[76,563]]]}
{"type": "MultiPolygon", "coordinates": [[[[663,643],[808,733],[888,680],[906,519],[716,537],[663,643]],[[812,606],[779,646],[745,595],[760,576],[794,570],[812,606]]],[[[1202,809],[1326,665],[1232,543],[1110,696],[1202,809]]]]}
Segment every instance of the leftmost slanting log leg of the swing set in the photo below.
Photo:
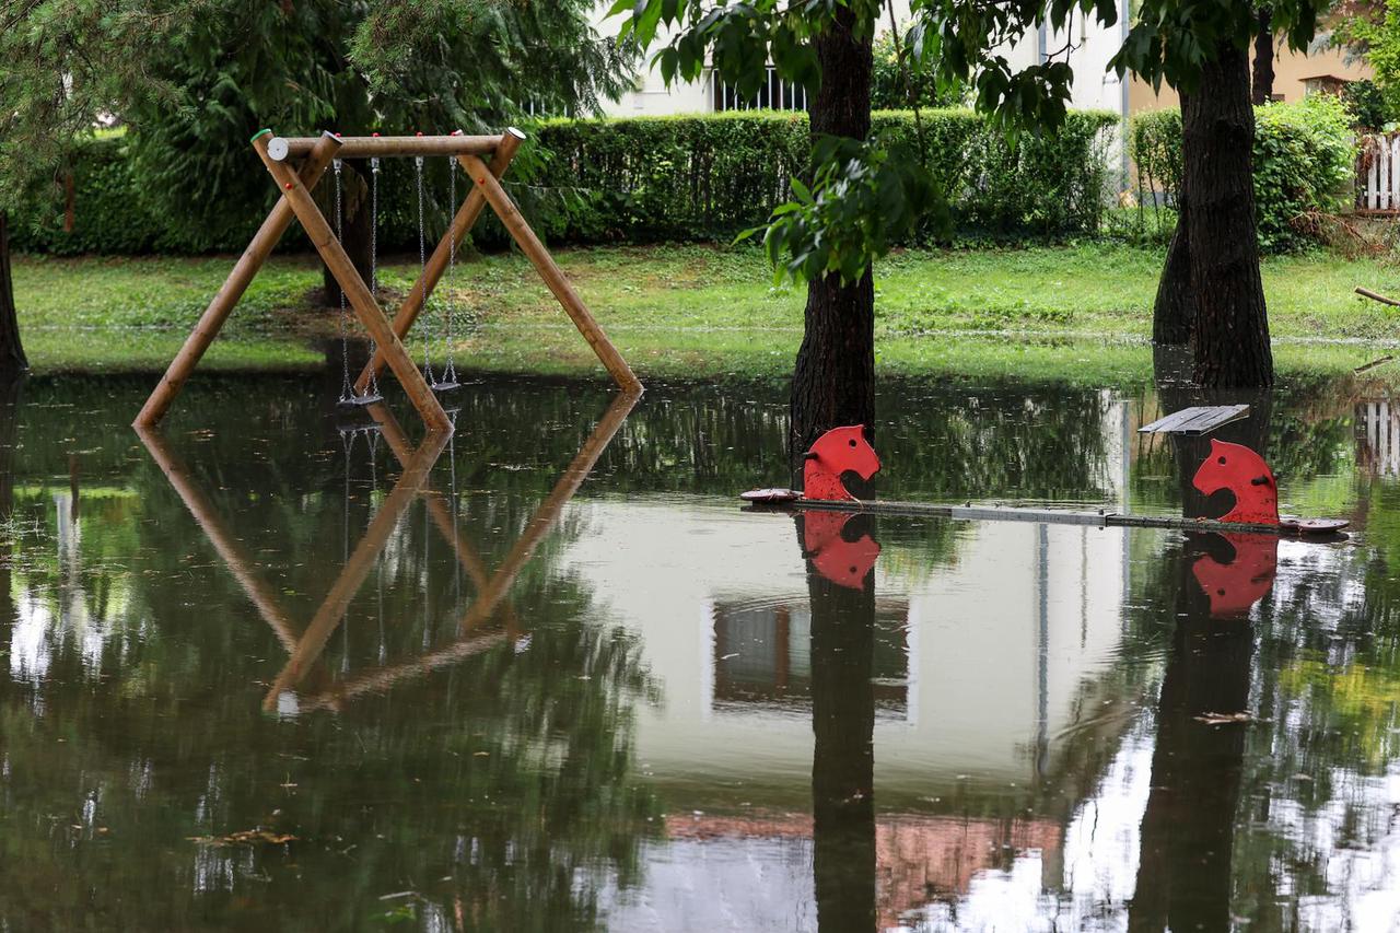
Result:
{"type": "MultiPolygon", "coordinates": [[[[330,167],[330,161],[336,157],[336,150],[339,148],[340,140],[332,133],[326,133],[316,140],[307,161],[301,165],[301,182],[307,188],[314,188],[321,181],[321,177],[330,167]]],[[[151,392],[151,396],[146,399],[146,405],[136,416],[133,426],[153,427],[165,416],[171,402],[185,388],[185,381],[203,359],[204,350],[218,336],[218,331],[224,326],[224,321],[228,319],[234,305],[244,297],[248,284],[258,275],[258,270],[262,269],[263,263],[267,262],[267,256],[281,240],[281,235],[287,233],[287,227],[291,226],[294,219],[295,213],[293,213],[291,205],[286,198],[279,198],[277,203],[267,213],[267,219],[263,220],[262,227],[253,234],[248,248],[244,249],[244,255],[238,258],[232,272],[228,273],[228,279],[224,280],[218,294],[209,303],[204,314],[199,318],[199,324],[195,325],[195,329],[185,339],[185,346],[171,360],[165,375],[151,392]]]]}

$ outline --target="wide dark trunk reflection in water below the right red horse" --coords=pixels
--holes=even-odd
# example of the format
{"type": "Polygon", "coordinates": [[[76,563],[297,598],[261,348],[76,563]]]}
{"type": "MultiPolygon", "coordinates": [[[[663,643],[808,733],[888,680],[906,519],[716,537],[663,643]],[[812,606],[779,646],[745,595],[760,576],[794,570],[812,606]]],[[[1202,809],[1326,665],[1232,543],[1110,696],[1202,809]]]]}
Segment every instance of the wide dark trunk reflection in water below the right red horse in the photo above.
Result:
{"type": "Polygon", "coordinates": [[[1247,709],[1253,632],[1246,622],[1211,619],[1191,574],[1193,555],[1177,552],[1175,562],[1176,579],[1168,586],[1177,588],[1176,630],[1158,702],[1128,929],[1228,930],[1247,726],[1210,726],[1196,717],[1247,709]]]}

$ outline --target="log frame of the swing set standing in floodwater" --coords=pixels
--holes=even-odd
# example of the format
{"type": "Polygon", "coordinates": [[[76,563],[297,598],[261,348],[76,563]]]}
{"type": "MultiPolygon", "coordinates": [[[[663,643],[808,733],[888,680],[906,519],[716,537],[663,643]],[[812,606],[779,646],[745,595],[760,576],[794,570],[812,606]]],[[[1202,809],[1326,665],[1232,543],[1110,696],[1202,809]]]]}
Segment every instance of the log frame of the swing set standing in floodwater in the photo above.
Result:
{"type": "Polygon", "coordinates": [[[627,361],[617,347],[603,333],[598,321],[574,291],[564,272],[540,242],[535,231],[521,216],[519,209],[501,186],[501,177],[510,168],[511,160],[525,140],[525,133],[510,129],[501,136],[346,136],[326,132],[319,137],[280,137],[272,130],[260,130],[252,137],[252,146],[277,184],[281,199],[273,206],[267,219],[253,234],[248,248],[234,265],[224,286],[200,315],[185,345],[165,370],[160,385],[151,392],[141,412],[136,416],[136,427],[153,427],[169,410],[185,381],[199,366],[220,328],[228,319],[234,307],[242,298],[253,276],[267,261],[277,241],[287,233],[293,220],[301,223],[311,244],[321,254],[326,269],[340,284],[346,300],[354,310],[360,324],[374,340],[375,352],[365,364],[354,391],[365,395],[375,377],[388,366],[399,384],[403,385],[413,406],[424,423],[434,431],[449,431],[452,422],[433,392],[424,374],[414,366],[403,346],[403,338],[417,321],[427,298],[433,294],[462,240],[476,224],[486,206],[490,206],[501,224],[515,240],[521,252],[531,261],[545,284],[563,305],[578,332],[584,335],[598,359],[608,368],[617,385],[627,394],[641,391],[641,382],[633,375],[627,361]],[[340,158],[384,158],[384,157],[427,157],[447,156],[455,158],[472,179],[472,191],[463,199],[461,209],[452,217],[447,233],[426,261],[419,280],[403,300],[393,321],[384,314],[374,291],[354,268],[336,231],[311,196],[321,177],[335,160],[340,158]],[[490,158],[490,164],[484,158],[490,158]]]}

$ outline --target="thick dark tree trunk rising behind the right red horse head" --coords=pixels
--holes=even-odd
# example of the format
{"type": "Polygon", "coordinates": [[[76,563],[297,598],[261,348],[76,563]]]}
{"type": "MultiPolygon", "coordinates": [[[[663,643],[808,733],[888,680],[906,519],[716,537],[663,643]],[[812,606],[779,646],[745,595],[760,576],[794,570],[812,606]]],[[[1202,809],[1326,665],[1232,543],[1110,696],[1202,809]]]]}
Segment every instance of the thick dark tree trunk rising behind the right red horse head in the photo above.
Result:
{"type": "Polygon", "coordinates": [[[1187,241],[1196,296],[1194,378],[1212,388],[1270,385],[1264,283],[1254,226],[1254,108],[1249,60],[1221,45],[1182,106],[1187,241]]]}

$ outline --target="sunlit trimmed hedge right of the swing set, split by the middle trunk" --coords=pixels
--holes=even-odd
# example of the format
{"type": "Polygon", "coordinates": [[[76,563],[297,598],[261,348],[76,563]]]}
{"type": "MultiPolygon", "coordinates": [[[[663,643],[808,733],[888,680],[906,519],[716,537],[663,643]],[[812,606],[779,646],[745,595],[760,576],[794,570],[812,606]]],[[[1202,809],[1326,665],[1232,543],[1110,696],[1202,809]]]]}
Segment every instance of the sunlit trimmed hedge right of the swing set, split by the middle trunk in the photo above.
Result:
{"type": "MultiPolygon", "coordinates": [[[[1107,141],[1117,118],[1075,112],[1054,136],[1015,146],[967,109],[921,113],[924,147],[949,195],[955,230],[998,240],[1098,230],[1109,188],[1107,141]]],[[[731,112],[535,127],[550,237],[650,242],[725,240],[788,199],[808,158],[805,113],[731,112]]],[[[874,130],[918,148],[913,113],[875,113],[874,130]]]]}

